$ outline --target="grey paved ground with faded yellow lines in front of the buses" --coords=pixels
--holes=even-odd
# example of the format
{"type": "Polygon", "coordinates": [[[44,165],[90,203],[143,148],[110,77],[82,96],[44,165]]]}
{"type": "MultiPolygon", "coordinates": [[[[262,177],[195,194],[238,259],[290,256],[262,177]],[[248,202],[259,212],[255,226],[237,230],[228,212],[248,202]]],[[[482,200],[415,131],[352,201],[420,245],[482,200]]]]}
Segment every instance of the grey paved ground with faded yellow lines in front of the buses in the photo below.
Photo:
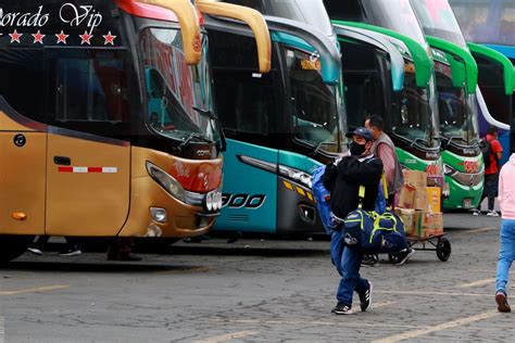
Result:
{"type": "Polygon", "coordinates": [[[339,277],[316,238],[177,242],[139,263],[26,253],[0,267],[0,342],[513,341],[493,298],[499,224],[445,214],[450,259],[381,255],[353,316],[330,313],[339,277]]]}

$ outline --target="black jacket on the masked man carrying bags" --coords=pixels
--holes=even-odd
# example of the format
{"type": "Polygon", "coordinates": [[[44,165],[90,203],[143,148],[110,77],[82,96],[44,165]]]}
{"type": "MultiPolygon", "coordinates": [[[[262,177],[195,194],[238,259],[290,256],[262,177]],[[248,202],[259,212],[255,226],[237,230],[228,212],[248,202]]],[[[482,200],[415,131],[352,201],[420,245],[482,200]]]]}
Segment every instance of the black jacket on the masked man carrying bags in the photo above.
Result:
{"type": "Polygon", "coordinates": [[[357,208],[360,186],[365,186],[363,209],[373,211],[376,204],[382,162],[369,155],[364,158],[344,156],[338,165],[329,164],[324,174],[324,186],[330,191],[330,209],[341,219],[357,208]]]}

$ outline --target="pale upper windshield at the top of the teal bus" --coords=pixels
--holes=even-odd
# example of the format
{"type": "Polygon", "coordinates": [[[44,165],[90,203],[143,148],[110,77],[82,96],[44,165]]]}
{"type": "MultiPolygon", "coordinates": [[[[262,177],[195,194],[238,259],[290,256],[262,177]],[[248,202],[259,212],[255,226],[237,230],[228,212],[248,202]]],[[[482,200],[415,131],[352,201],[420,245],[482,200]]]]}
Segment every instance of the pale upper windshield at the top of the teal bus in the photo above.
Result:
{"type": "Polygon", "coordinates": [[[332,26],[322,0],[225,0],[259,12],[305,23],[326,36],[332,36],[332,26]]]}

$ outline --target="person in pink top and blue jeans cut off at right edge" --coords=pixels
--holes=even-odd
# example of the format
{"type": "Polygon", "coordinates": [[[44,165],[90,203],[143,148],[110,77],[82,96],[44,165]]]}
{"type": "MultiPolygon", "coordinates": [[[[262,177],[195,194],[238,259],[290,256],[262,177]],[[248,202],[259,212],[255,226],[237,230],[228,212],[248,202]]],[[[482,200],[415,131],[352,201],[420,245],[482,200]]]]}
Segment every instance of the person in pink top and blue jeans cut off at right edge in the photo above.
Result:
{"type": "Polygon", "coordinates": [[[495,278],[495,302],[499,312],[511,312],[507,304],[506,284],[510,267],[515,259],[515,154],[502,169],[499,178],[499,204],[501,206],[501,233],[495,278]]]}

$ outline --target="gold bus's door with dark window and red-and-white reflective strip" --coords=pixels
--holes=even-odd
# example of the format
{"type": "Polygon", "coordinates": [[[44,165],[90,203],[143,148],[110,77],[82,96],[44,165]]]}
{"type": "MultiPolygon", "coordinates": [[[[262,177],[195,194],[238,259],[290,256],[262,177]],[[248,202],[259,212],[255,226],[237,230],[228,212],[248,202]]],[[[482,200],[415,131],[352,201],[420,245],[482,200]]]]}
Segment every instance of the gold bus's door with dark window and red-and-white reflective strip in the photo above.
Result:
{"type": "Polygon", "coordinates": [[[47,234],[115,236],[127,218],[130,145],[102,136],[129,120],[125,61],[121,51],[49,52],[47,234]]]}

